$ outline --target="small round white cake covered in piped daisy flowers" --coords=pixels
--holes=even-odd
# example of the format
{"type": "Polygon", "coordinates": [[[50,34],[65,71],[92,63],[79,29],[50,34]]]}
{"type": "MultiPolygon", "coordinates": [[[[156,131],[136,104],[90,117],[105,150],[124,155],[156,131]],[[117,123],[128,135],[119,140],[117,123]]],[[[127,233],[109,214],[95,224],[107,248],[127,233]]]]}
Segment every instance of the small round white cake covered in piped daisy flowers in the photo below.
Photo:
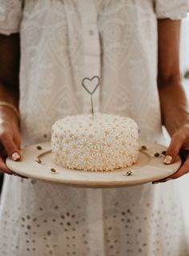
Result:
{"type": "Polygon", "coordinates": [[[62,167],[113,171],[136,162],[138,126],[113,114],[67,116],[54,123],[51,147],[54,163],[62,167]]]}

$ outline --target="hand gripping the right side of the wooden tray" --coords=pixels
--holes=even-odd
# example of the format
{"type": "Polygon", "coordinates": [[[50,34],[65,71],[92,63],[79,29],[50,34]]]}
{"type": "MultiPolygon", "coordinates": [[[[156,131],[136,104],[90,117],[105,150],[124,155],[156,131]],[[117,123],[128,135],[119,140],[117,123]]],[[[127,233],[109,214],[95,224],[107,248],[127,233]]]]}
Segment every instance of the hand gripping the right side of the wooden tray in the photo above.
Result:
{"type": "MultiPolygon", "coordinates": [[[[171,137],[171,143],[167,148],[167,153],[163,163],[171,164],[175,162],[177,156],[180,155],[182,165],[173,175],[168,176],[158,182],[166,182],[168,180],[177,179],[189,172],[189,125],[184,125],[175,132],[171,137]]],[[[155,181],[155,183],[157,183],[155,181]]]]}

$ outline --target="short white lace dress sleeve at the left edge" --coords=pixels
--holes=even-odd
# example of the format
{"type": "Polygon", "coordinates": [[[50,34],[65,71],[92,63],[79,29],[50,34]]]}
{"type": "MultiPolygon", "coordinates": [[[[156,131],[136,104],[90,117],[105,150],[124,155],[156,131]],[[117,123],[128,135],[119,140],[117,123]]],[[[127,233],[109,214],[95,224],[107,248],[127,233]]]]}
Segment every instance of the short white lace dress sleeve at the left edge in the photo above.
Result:
{"type": "Polygon", "coordinates": [[[0,33],[10,35],[19,31],[22,0],[0,0],[0,33]]]}

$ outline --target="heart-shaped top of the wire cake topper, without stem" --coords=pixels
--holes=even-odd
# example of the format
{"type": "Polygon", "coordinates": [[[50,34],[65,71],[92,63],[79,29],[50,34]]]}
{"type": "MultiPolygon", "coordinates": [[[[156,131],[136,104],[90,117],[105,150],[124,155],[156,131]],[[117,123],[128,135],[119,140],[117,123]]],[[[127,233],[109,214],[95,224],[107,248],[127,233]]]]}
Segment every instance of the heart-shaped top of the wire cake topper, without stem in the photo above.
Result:
{"type": "Polygon", "coordinates": [[[93,95],[93,93],[95,93],[99,85],[100,85],[99,76],[93,76],[92,78],[85,77],[82,79],[82,87],[86,89],[86,92],[89,93],[90,95],[93,95]]]}

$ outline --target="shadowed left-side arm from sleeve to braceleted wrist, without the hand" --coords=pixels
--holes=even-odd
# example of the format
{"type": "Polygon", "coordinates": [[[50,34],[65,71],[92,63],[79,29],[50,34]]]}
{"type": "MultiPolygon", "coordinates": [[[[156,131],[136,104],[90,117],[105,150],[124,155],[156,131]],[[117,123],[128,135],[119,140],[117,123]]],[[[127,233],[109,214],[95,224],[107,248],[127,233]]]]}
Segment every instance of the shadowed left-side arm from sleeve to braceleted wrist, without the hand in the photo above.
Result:
{"type": "MultiPolygon", "coordinates": [[[[0,101],[6,101],[18,107],[19,89],[19,35],[0,35],[0,101]]],[[[0,118],[10,118],[18,122],[14,111],[0,106],[0,118]]]]}

